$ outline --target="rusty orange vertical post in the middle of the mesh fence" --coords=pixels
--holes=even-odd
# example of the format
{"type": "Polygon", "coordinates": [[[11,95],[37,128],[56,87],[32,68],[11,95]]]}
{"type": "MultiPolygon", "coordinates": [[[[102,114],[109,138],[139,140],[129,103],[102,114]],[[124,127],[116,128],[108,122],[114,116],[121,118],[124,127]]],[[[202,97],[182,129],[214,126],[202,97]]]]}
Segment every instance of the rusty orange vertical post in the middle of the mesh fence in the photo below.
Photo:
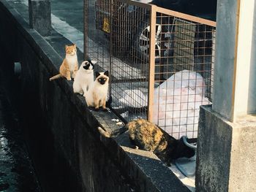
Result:
{"type": "Polygon", "coordinates": [[[153,120],[154,106],[154,66],[155,66],[155,45],[156,45],[156,6],[152,5],[150,10],[150,39],[149,39],[149,66],[148,66],[148,120],[153,120]]]}

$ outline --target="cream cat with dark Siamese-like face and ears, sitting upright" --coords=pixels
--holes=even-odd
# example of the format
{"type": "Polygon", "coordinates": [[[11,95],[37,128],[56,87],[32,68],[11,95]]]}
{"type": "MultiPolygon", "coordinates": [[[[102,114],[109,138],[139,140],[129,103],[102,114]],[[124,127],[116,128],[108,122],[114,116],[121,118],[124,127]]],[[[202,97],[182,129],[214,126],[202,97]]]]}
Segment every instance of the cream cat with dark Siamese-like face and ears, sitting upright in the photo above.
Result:
{"type": "Polygon", "coordinates": [[[86,103],[88,107],[95,107],[95,110],[99,110],[102,107],[106,110],[106,99],[108,95],[108,71],[95,72],[96,79],[89,87],[89,90],[84,93],[86,97],[86,103]]]}

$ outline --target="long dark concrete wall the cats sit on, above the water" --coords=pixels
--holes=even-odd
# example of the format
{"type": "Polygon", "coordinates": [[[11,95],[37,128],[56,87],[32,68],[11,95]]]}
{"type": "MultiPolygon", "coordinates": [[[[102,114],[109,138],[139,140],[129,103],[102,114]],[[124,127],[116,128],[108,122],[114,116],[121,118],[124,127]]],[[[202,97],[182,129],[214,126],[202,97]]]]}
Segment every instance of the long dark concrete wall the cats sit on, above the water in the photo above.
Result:
{"type": "Polygon", "coordinates": [[[0,50],[11,58],[7,63],[22,64],[19,94],[24,119],[37,116],[28,126],[37,124],[40,133],[50,132],[53,155],[58,153],[55,166],[65,162],[65,169],[60,169],[66,176],[56,177],[58,186],[67,190],[67,180],[75,180],[72,191],[189,191],[156,155],[132,149],[127,133],[114,139],[99,134],[98,126],[120,128],[111,120],[116,115],[89,110],[83,96],[72,92],[72,82],[49,82],[59,72],[61,56],[5,0],[0,0],[0,23],[0,43],[5,47],[0,50]]]}

